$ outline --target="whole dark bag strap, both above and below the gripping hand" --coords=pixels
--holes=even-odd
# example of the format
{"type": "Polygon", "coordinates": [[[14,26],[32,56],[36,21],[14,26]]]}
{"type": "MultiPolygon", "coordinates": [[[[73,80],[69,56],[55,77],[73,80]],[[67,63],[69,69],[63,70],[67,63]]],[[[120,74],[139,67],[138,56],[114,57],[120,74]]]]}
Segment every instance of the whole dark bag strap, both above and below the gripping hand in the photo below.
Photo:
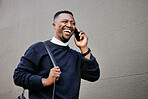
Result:
{"type": "MultiPolygon", "coordinates": [[[[53,66],[54,66],[54,67],[57,67],[57,63],[56,63],[56,61],[55,61],[55,59],[54,59],[54,57],[53,57],[53,54],[52,54],[51,51],[50,51],[50,48],[49,48],[48,44],[47,44],[46,42],[43,42],[43,43],[44,43],[44,46],[45,46],[45,48],[46,48],[46,50],[47,50],[47,52],[48,52],[48,54],[49,54],[49,57],[50,57],[50,59],[51,59],[51,61],[52,61],[53,66]]],[[[53,85],[52,99],[54,99],[55,85],[56,85],[56,82],[55,82],[54,85],[53,85]]]]}

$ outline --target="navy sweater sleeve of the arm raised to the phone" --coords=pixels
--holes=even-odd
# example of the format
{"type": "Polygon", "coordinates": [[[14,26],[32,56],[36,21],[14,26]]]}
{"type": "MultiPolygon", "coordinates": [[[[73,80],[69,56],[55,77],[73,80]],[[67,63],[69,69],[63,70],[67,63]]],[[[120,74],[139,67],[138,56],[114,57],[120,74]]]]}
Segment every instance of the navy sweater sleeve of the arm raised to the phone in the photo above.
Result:
{"type": "Polygon", "coordinates": [[[99,69],[99,64],[96,61],[96,58],[91,54],[90,59],[86,59],[81,55],[81,66],[82,66],[82,71],[81,71],[81,77],[84,80],[88,81],[96,81],[100,77],[100,69],[99,69]]]}

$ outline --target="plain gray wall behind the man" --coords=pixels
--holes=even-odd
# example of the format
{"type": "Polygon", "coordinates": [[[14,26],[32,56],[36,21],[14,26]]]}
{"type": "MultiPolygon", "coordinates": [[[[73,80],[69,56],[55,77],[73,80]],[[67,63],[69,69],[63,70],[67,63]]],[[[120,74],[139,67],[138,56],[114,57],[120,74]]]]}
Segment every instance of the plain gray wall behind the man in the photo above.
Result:
{"type": "MultiPolygon", "coordinates": [[[[0,0],[0,99],[21,93],[12,79],[20,57],[52,38],[53,14],[63,9],[100,63],[100,80],[82,80],[80,99],[148,99],[148,0],[0,0]]],[[[69,45],[78,50],[73,38],[69,45]]]]}

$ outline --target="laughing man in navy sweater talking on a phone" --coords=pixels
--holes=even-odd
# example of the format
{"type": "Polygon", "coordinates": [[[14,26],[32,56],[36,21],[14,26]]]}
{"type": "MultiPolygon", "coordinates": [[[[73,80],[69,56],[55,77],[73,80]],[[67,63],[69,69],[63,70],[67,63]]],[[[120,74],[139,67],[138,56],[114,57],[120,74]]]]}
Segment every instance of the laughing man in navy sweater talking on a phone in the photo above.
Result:
{"type": "Polygon", "coordinates": [[[99,79],[98,63],[87,47],[88,38],[83,31],[78,31],[80,41],[74,38],[81,53],[68,46],[76,28],[70,11],[57,12],[53,28],[54,37],[45,42],[58,66],[53,67],[44,44],[38,42],[22,56],[14,71],[14,83],[29,90],[29,99],[51,99],[55,82],[54,99],[78,99],[81,78],[88,81],[99,79]]]}

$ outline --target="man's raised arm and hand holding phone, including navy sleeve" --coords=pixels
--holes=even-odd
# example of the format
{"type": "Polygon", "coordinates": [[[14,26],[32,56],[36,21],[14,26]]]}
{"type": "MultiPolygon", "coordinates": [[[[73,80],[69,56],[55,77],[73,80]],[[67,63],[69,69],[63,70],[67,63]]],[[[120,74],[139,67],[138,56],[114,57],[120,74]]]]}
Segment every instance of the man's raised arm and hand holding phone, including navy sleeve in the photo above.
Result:
{"type": "Polygon", "coordinates": [[[99,64],[97,63],[95,57],[90,53],[90,49],[87,47],[88,37],[83,31],[78,31],[80,36],[80,41],[74,38],[75,44],[81,50],[82,56],[82,71],[81,76],[83,79],[88,81],[96,81],[100,77],[99,64]]]}

